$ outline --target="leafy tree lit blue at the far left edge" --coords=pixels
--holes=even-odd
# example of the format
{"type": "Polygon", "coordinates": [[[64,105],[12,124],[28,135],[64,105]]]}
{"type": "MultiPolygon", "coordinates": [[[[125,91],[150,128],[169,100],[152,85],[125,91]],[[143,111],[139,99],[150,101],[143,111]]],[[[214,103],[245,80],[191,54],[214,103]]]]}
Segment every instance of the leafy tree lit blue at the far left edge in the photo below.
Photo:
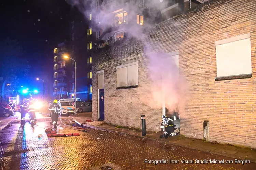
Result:
{"type": "Polygon", "coordinates": [[[28,74],[30,66],[22,58],[23,49],[16,40],[0,40],[0,96],[10,95],[16,90],[19,79],[28,74]],[[8,86],[6,86],[8,84],[8,86]]]}

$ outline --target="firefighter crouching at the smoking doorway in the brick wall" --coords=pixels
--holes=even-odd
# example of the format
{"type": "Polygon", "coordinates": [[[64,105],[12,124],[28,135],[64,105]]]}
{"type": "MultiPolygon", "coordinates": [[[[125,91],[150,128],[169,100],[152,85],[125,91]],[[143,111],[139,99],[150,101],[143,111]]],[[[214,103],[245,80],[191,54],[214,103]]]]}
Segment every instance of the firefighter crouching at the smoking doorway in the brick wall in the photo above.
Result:
{"type": "MultiPolygon", "coordinates": [[[[179,119],[179,118],[177,118],[179,119]]],[[[162,116],[162,123],[161,123],[161,129],[163,130],[163,134],[160,135],[160,138],[165,137],[166,139],[169,136],[174,136],[179,134],[180,130],[178,128],[175,128],[175,124],[173,121],[176,120],[176,116],[173,117],[166,117],[166,116],[162,116]]]]}

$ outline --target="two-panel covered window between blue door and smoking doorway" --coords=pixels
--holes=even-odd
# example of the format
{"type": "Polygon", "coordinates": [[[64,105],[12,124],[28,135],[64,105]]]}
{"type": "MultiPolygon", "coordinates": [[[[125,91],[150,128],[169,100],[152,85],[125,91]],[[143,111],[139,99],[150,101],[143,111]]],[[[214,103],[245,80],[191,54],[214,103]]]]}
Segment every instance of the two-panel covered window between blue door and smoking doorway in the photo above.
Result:
{"type": "Polygon", "coordinates": [[[138,62],[118,66],[116,67],[116,69],[117,69],[117,87],[139,85],[138,62]]]}

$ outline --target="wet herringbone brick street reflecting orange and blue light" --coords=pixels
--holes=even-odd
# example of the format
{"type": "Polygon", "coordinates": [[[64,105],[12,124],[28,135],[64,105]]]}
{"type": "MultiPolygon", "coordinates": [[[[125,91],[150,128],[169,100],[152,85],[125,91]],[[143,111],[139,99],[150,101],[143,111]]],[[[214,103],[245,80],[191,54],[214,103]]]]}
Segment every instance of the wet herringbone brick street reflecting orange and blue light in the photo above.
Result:
{"type": "Polygon", "coordinates": [[[6,169],[90,169],[108,162],[127,170],[256,168],[252,162],[243,165],[230,157],[94,129],[81,132],[58,126],[58,133],[80,133],[80,136],[47,137],[44,130],[51,126],[39,120],[34,128],[27,123],[23,130],[17,122],[2,130],[0,141],[5,150],[6,169]],[[210,159],[224,163],[199,163],[210,159]],[[161,162],[156,163],[157,160],[161,162]],[[233,164],[226,160],[232,160],[233,164]]]}

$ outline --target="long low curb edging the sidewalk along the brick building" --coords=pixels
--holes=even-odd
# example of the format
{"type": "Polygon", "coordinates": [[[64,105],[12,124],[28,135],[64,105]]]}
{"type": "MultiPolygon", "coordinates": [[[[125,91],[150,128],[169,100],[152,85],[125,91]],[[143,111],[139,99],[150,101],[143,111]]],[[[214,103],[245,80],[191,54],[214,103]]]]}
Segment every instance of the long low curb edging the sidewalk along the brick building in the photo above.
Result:
{"type": "MultiPolygon", "coordinates": [[[[77,120],[75,120],[74,118],[72,118],[72,119],[77,124],[79,124],[80,126],[85,126],[87,128],[92,128],[92,129],[96,129],[96,130],[100,130],[100,131],[104,131],[104,132],[119,133],[119,134],[123,134],[123,135],[129,135],[129,136],[134,136],[134,137],[138,137],[138,138],[142,138],[142,139],[148,139],[148,140],[154,140],[154,141],[159,141],[159,142],[162,142],[162,143],[166,143],[166,141],[164,141],[164,140],[159,140],[159,139],[156,139],[156,138],[145,137],[145,136],[138,136],[138,135],[133,135],[133,134],[127,134],[125,132],[118,132],[118,131],[113,131],[113,130],[109,130],[109,129],[105,129],[105,128],[100,128],[100,127],[93,126],[93,125],[82,124],[82,123],[78,122],[77,120]]],[[[189,148],[189,149],[193,149],[193,150],[208,152],[208,153],[212,153],[212,154],[216,154],[216,155],[222,155],[222,156],[227,156],[227,157],[241,159],[241,160],[250,160],[251,162],[256,163],[256,159],[250,159],[250,158],[245,159],[244,157],[234,156],[234,155],[230,155],[230,154],[226,154],[226,153],[214,152],[214,151],[211,151],[211,150],[205,150],[205,149],[196,148],[196,147],[190,147],[190,146],[187,146],[187,145],[182,145],[180,143],[174,143],[174,142],[171,142],[171,141],[169,141],[168,143],[171,144],[171,145],[174,145],[174,146],[185,147],[185,148],[189,148]]]]}

